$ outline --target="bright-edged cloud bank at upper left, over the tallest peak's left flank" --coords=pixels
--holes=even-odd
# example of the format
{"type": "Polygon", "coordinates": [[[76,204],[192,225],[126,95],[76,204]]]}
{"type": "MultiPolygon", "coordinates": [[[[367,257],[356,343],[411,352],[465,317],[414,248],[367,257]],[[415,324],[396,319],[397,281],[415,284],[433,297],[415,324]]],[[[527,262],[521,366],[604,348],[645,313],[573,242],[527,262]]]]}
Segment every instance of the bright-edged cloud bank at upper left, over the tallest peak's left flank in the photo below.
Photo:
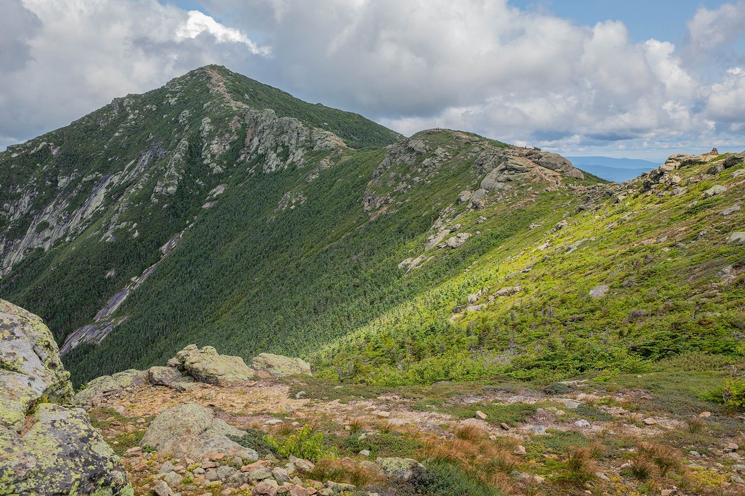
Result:
{"type": "Polygon", "coordinates": [[[28,53],[0,70],[0,149],[200,65],[246,67],[267,53],[241,31],[156,0],[2,1],[0,19],[16,14],[13,30],[0,21],[0,48],[17,40],[28,53]]]}

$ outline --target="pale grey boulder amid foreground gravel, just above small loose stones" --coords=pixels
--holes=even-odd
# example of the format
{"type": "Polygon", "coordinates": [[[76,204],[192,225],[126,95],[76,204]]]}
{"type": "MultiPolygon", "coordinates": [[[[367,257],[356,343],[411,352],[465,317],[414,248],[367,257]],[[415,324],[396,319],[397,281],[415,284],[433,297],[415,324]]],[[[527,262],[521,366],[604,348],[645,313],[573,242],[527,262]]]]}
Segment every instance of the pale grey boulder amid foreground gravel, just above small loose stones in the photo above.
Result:
{"type": "Polygon", "coordinates": [[[259,459],[256,451],[244,448],[229,438],[246,434],[246,431],[233,428],[222,419],[215,419],[215,413],[209,408],[187,403],[165,410],[150,422],[140,445],[194,460],[222,453],[235,454],[244,462],[253,462],[259,459]]]}

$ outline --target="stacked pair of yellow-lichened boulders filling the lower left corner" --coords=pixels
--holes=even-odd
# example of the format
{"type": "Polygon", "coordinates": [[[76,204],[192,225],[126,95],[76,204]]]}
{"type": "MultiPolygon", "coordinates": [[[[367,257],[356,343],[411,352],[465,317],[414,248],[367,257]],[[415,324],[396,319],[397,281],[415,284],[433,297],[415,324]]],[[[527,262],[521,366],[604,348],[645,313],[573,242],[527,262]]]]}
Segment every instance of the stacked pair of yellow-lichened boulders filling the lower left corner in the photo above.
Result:
{"type": "Polygon", "coordinates": [[[0,338],[0,494],[132,496],[42,320],[0,300],[0,338]]]}

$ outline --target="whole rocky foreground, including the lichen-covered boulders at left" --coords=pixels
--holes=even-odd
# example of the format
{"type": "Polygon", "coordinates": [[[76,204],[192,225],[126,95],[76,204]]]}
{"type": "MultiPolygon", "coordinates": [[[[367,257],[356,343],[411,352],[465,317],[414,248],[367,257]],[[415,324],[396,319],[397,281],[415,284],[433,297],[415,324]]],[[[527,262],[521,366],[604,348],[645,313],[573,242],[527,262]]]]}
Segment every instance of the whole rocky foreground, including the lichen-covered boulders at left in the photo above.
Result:
{"type": "Polygon", "coordinates": [[[707,394],[735,364],[714,356],[391,388],[189,345],[73,398],[46,326],[0,303],[1,495],[745,494],[744,417],[707,394]]]}

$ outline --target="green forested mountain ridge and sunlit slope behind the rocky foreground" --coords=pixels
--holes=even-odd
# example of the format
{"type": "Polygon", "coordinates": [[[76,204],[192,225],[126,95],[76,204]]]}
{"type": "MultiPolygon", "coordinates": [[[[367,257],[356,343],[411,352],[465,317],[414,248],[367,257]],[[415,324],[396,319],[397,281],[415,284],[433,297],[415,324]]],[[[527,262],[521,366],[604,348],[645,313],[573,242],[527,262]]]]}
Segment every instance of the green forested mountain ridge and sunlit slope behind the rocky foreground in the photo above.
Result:
{"type": "Polygon", "coordinates": [[[608,185],[559,155],[403,139],[207,66],[0,154],[0,297],[49,323],[76,383],[192,342],[382,384],[741,353],[742,247],[725,231],[742,214],[717,213],[742,194],[741,160],[674,164],[608,185]],[[726,265],[726,312],[686,324],[726,265]],[[502,286],[520,289],[486,305],[502,286]],[[468,294],[484,306],[453,314],[468,294]],[[618,331],[629,306],[648,313],[618,331]]]}

